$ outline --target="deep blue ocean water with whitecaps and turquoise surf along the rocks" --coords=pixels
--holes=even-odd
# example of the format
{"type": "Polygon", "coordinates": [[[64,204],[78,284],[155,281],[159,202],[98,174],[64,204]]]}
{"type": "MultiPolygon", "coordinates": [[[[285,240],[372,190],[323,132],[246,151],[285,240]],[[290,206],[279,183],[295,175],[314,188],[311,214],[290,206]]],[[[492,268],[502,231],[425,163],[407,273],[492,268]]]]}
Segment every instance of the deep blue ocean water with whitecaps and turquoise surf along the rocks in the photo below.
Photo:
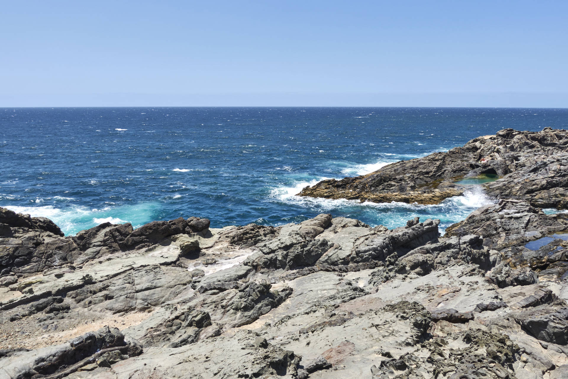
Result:
{"type": "Polygon", "coordinates": [[[502,128],[547,126],[566,128],[568,109],[0,109],[0,206],[47,216],[65,234],[106,221],[279,225],[319,213],[387,227],[435,217],[445,228],[492,200],[477,188],[431,206],[294,194],[502,128]]]}

